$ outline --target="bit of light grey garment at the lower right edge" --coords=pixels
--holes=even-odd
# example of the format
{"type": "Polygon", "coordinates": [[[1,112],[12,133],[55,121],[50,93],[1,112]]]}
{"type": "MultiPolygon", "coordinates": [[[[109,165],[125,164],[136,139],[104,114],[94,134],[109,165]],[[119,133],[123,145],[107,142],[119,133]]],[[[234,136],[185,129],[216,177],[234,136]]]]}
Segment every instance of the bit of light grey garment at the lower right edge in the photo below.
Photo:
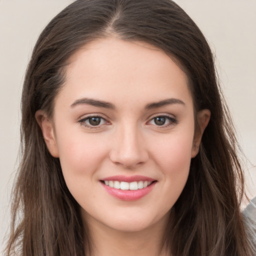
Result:
{"type": "Polygon", "coordinates": [[[256,197],[250,200],[242,212],[248,237],[251,242],[253,256],[256,255],[256,197]]]}

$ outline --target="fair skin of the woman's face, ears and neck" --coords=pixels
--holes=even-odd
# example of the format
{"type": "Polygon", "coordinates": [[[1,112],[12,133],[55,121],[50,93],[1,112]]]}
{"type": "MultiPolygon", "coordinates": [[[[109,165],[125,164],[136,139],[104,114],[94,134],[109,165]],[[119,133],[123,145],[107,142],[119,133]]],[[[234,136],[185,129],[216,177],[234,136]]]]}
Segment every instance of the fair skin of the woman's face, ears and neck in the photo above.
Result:
{"type": "Polygon", "coordinates": [[[51,155],[60,159],[98,255],[164,255],[164,226],[209,117],[207,109],[200,111],[195,136],[186,74],[152,45],[108,37],[71,56],[53,117],[39,110],[36,119],[51,155]],[[84,98],[113,107],[84,103],[84,98]],[[175,102],[146,108],[170,98],[175,102]],[[93,126],[88,116],[102,118],[93,126]],[[156,116],[166,116],[163,125],[156,116]],[[100,182],[113,175],[156,181],[142,198],[125,201],[100,182]]]}

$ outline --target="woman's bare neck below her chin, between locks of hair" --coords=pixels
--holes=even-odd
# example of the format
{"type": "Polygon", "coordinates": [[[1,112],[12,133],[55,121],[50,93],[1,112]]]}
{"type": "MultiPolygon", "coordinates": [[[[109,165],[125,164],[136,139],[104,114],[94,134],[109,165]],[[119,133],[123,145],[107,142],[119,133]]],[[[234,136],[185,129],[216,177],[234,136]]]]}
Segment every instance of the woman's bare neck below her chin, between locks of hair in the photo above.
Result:
{"type": "Polygon", "coordinates": [[[166,219],[139,231],[120,231],[86,216],[92,252],[89,256],[166,256],[163,236],[166,219]]]}

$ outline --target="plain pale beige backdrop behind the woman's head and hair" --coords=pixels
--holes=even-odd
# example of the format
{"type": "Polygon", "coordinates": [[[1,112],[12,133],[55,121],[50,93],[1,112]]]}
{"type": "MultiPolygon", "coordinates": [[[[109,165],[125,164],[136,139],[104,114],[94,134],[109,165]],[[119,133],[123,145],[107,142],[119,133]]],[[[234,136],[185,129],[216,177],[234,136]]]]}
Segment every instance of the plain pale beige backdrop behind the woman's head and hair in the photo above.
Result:
{"type": "MultiPolygon", "coordinates": [[[[240,145],[250,198],[256,195],[256,0],[175,0],[197,23],[216,66],[240,145]],[[253,183],[254,182],[254,183],[253,183]]],[[[43,27],[71,0],[0,0],[0,254],[18,165],[20,94],[43,27]]]]}

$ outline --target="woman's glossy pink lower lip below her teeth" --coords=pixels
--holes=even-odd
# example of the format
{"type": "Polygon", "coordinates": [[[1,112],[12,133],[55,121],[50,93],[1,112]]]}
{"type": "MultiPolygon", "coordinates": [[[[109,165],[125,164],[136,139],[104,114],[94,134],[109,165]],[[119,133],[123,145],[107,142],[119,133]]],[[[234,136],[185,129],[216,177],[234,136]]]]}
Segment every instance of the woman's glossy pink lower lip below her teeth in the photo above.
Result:
{"type": "Polygon", "coordinates": [[[104,189],[111,194],[112,196],[124,200],[124,201],[134,201],[138,200],[141,197],[145,196],[148,194],[154,187],[156,182],[151,183],[147,187],[140,188],[137,190],[122,190],[122,189],[116,189],[110,186],[105,185],[104,183],[100,182],[104,189]]]}

